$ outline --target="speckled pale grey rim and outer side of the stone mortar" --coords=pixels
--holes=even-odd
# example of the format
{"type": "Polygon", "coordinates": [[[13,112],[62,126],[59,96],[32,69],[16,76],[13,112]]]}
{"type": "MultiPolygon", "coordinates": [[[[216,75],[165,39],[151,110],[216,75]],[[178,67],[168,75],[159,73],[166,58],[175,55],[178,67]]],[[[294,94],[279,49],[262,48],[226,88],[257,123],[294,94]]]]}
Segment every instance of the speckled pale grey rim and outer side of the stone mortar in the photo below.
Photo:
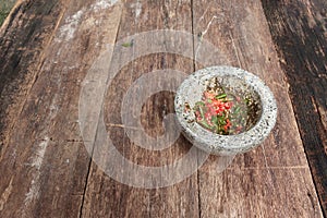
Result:
{"type": "Polygon", "coordinates": [[[182,128],[183,135],[198,148],[217,155],[233,155],[245,153],[259,145],[270,133],[276,124],[277,104],[269,87],[256,75],[234,66],[214,65],[204,68],[192,73],[183,81],[177,90],[174,99],[177,119],[182,128]],[[210,75],[209,75],[210,74],[210,75]],[[250,130],[235,135],[220,135],[202,128],[198,123],[189,123],[183,117],[183,104],[185,96],[181,94],[184,88],[192,88],[192,84],[198,82],[197,76],[237,76],[251,86],[259,96],[262,114],[258,121],[250,130]],[[204,136],[203,136],[204,135],[204,136]]]}

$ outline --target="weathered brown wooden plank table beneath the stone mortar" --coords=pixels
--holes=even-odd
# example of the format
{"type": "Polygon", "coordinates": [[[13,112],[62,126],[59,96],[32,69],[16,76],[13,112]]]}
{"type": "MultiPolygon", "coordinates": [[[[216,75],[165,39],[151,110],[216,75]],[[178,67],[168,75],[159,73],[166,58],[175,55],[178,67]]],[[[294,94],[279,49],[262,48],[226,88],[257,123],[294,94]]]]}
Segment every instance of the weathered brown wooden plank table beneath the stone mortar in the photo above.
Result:
{"type": "MultiPolygon", "coordinates": [[[[323,0],[19,1],[0,29],[0,217],[323,217],[326,9],[323,0]],[[155,70],[240,66],[265,81],[279,111],[265,143],[237,156],[222,173],[210,156],[177,184],[141,189],[114,181],[93,161],[81,136],[78,101],[105,51],[99,70],[113,64],[108,45],[156,29],[192,34],[193,57],[205,40],[223,59],[204,63],[158,52],[119,71],[102,108],[108,135],[126,159],[165,166],[192,146],[180,136],[165,150],[146,150],[124,133],[122,98],[155,70]]],[[[121,46],[133,52],[136,43],[121,46]]],[[[170,112],[173,93],[157,93],[142,109],[142,125],[160,135],[170,112]]]]}

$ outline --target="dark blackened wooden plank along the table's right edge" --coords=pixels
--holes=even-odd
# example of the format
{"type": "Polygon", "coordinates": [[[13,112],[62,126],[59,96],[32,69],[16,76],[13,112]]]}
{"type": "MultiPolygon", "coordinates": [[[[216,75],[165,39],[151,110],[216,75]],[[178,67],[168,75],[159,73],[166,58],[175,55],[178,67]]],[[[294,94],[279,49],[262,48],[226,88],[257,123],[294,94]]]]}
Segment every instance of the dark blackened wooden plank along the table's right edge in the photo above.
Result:
{"type": "Polygon", "coordinates": [[[263,1],[281,68],[327,216],[327,28],[326,1],[263,1]]]}

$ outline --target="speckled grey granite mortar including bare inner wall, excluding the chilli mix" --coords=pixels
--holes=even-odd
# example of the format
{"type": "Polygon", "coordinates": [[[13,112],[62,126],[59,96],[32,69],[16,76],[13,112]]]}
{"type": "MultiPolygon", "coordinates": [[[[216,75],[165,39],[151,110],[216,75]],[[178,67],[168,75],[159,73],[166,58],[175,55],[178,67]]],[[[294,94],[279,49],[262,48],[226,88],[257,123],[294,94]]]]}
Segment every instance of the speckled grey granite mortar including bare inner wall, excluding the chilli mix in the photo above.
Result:
{"type": "Polygon", "coordinates": [[[190,75],[179,87],[174,100],[175,113],[184,136],[198,148],[214,155],[231,156],[245,153],[258,146],[272,130],[277,118],[277,105],[272,93],[256,75],[233,66],[209,66],[190,75]],[[262,114],[249,131],[237,135],[219,135],[203,129],[194,120],[193,112],[186,112],[185,102],[191,108],[201,100],[206,89],[206,81],[218,77],[238,89],[249,89],[258,96],[262,114]]]}

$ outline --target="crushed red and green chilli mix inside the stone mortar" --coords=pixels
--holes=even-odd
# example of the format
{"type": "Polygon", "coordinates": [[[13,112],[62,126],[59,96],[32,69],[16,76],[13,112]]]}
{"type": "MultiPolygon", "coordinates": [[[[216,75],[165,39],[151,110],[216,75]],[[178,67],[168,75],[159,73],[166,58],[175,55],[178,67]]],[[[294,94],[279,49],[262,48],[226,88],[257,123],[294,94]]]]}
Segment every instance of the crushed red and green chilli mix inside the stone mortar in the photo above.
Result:
{"type": "Polygon", "coordinates": [[[192,110],[201,126],[217,134],[233,135],[251,129],[261,113],[259,104],[251,95],[232,93],[213,80],[215,85],[204,90],[202,100],[193,109],[185,104],[185,110],[192,110]]]}

